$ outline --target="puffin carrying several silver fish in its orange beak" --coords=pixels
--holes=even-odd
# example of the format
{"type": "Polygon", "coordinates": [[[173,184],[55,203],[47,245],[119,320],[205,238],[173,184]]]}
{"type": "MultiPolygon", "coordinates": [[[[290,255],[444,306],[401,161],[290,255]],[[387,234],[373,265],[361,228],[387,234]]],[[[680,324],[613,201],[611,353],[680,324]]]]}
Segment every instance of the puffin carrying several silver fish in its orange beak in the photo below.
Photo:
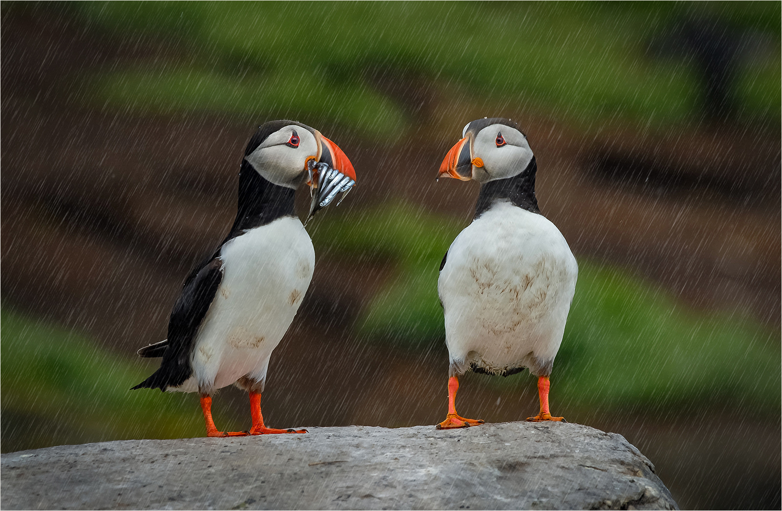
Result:
{"type": "Polygon", "coordinates": [[[168,338],[138,350],[163,362],[133,389],[197,391],[208,437],[306,433],[267,428],[260,413],[271,351],[296,315],[315,264],[294,195],[303,182],[317,188],[311,217],[355,180],[345,153],[319,131],[296,121],[260,126],[242,159],[231,232],[185,279],[168,338]],[[211,396],[231,383],[249,392],[249,432],[224,433],[214,425],[211,396]]]}

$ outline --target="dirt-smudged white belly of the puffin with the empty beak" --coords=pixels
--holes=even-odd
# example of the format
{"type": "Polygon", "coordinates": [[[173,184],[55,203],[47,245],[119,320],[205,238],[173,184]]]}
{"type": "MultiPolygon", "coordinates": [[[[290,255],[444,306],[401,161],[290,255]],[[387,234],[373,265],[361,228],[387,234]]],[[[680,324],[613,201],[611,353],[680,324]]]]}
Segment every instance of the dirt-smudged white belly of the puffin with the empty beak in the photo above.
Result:
{"type": "Polygon", "coordinates": [[[510,203],[493,206],[457,236],[440,273],[451,362],[550,372],[577,272],[551,221],[510,203]]]}

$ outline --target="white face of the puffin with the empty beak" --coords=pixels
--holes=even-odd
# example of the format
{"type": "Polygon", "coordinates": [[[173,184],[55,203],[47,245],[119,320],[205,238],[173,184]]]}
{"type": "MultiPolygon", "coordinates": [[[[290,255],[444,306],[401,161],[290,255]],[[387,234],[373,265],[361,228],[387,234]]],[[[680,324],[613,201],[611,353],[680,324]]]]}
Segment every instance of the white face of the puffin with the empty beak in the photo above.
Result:
{"type": "Polygon", "coordinates": [[[505,124],[492,124],[475,136],[472,157],[483,160],[482,167],[472,166],[472,178],[485,183],[522,173],[533,159],[533,150],[521,131],[505,124]]]}

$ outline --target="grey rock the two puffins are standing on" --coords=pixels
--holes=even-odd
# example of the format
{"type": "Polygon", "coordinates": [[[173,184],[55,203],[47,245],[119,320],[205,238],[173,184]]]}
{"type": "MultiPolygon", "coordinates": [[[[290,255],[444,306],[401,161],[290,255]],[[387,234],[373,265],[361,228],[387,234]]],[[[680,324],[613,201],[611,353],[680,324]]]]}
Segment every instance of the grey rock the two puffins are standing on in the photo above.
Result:
{"type": "Polygon", "coordinates": [[[65,445],[0,475],[2,509],[678,509],[624,437],[569,423],[65,445]]]}

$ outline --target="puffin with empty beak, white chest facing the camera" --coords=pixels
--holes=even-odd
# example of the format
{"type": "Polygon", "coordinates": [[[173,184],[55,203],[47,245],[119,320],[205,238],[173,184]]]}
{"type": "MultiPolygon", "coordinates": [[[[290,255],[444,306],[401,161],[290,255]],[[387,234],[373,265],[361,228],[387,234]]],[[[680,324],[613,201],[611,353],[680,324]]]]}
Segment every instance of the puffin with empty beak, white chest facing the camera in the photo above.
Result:
{"type": "MultiPolygon", "coordinates": [[[[576,291],[578,264],[565,237],[540,213],[537,164],[526,135],[504,118],[472,121],[439,176],[481,184],[475,215],[440,264],[437,290],[450,358],[448,414],[437,429],[483,423],[457,415],[459,376],[468,370],[538,377],[540,412],[552,417],[549,375],[576,291]]],[[[565,421],[566,422],[566,421],[565,421]]]]}

